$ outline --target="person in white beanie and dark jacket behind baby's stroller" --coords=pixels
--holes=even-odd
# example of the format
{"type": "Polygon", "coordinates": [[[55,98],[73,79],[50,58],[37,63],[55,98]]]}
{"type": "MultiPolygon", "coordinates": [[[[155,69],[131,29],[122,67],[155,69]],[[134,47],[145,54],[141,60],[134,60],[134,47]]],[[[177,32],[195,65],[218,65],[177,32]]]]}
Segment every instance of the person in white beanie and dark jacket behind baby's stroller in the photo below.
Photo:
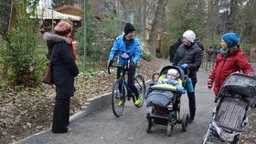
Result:
{"type": "MultiPolygon", "coordinates": [[[[195,43],[196,35],[192,30],[187,30],[183,34],[182,45],[176,50],[173,65],[181,67],[187,71],[188,77],[191,78],[193,87],[195,89],[197,83],[197,71],[202,62],[202,49],[195,43]]],[[[196,98],[195,91],[187,92],[189,104],[189,122],[192,122],[196,114],[196,98]]]]}

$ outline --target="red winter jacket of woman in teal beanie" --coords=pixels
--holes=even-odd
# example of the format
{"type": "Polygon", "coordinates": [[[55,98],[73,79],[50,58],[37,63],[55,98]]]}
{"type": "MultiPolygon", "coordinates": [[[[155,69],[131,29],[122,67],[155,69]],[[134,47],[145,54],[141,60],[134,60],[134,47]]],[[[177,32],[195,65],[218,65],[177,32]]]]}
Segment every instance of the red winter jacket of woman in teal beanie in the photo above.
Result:
{"type": "Polygon", "coordinates": [[[225,54],[219,53],[216,58],[215,66],[209,75],[209,78],[214,79],[214,93],[217,96],[219,88],[224,83],[227,77],[233,72],[242,71],[244,74],[253,72],[251,64],[247,57],[243,54],[241,47],[238,45],[238,50],[231,56],[226,57],[225,54]]]}

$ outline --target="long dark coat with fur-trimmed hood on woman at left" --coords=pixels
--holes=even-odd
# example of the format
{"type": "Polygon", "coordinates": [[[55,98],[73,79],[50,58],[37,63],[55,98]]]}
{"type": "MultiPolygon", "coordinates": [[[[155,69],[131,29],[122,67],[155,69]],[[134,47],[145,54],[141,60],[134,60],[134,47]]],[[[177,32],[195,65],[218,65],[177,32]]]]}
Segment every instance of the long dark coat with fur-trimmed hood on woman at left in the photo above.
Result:
{"type": "Polygon", "coordinates": [[[53,68],[53,78],[56,86],[56,98],[69,98],[74,95],[74,77],[78,76],[79,69],[70,51],[70,40],[64,36],[46,33],[44,39],[48,45],[48,59],[51,60],[53,68]]]}

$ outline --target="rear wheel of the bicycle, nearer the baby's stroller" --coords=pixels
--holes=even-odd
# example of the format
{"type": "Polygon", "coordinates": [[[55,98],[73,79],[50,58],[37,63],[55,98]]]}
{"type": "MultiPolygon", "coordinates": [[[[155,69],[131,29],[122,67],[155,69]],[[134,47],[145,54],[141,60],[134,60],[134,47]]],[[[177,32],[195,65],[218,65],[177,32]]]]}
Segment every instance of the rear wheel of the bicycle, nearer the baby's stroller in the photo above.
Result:
{"type": "MultiPolygon", "coordinates": [[[[140,108],[144,105],[144,97],[145,97],[145,84],[144,84],[144,77],[142,77],[141,75],[136,75],[136,77],[134,78],[134,85],[138,90],[139,96],[142,98],[142,102],[137,105],[137,108],[140,108]]],[[[133,102],[134,102],[134,98],[133,98],[133,102]]]]}

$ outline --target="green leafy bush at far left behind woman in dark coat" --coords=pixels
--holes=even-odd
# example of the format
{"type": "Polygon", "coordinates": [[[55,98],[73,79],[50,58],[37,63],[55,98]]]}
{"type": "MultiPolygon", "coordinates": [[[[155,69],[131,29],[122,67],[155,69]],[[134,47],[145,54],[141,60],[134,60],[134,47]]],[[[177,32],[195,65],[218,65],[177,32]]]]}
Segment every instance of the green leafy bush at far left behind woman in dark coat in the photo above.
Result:
{"type": "Polygon", "coordinates": [[[11,30],[10,46],[5,55],[8,66],[11,68],[10,82],[15,85],[34,87],[38,82],[40,61],[37,59],[35,50],[37,48],[37,22],[29,18],[33,15],[33,9],[38,1],[24,1],[17,3],[17,23],[11,30]],[[26,7],[32,8],[31,13],[27,14],[26,7]]]}

